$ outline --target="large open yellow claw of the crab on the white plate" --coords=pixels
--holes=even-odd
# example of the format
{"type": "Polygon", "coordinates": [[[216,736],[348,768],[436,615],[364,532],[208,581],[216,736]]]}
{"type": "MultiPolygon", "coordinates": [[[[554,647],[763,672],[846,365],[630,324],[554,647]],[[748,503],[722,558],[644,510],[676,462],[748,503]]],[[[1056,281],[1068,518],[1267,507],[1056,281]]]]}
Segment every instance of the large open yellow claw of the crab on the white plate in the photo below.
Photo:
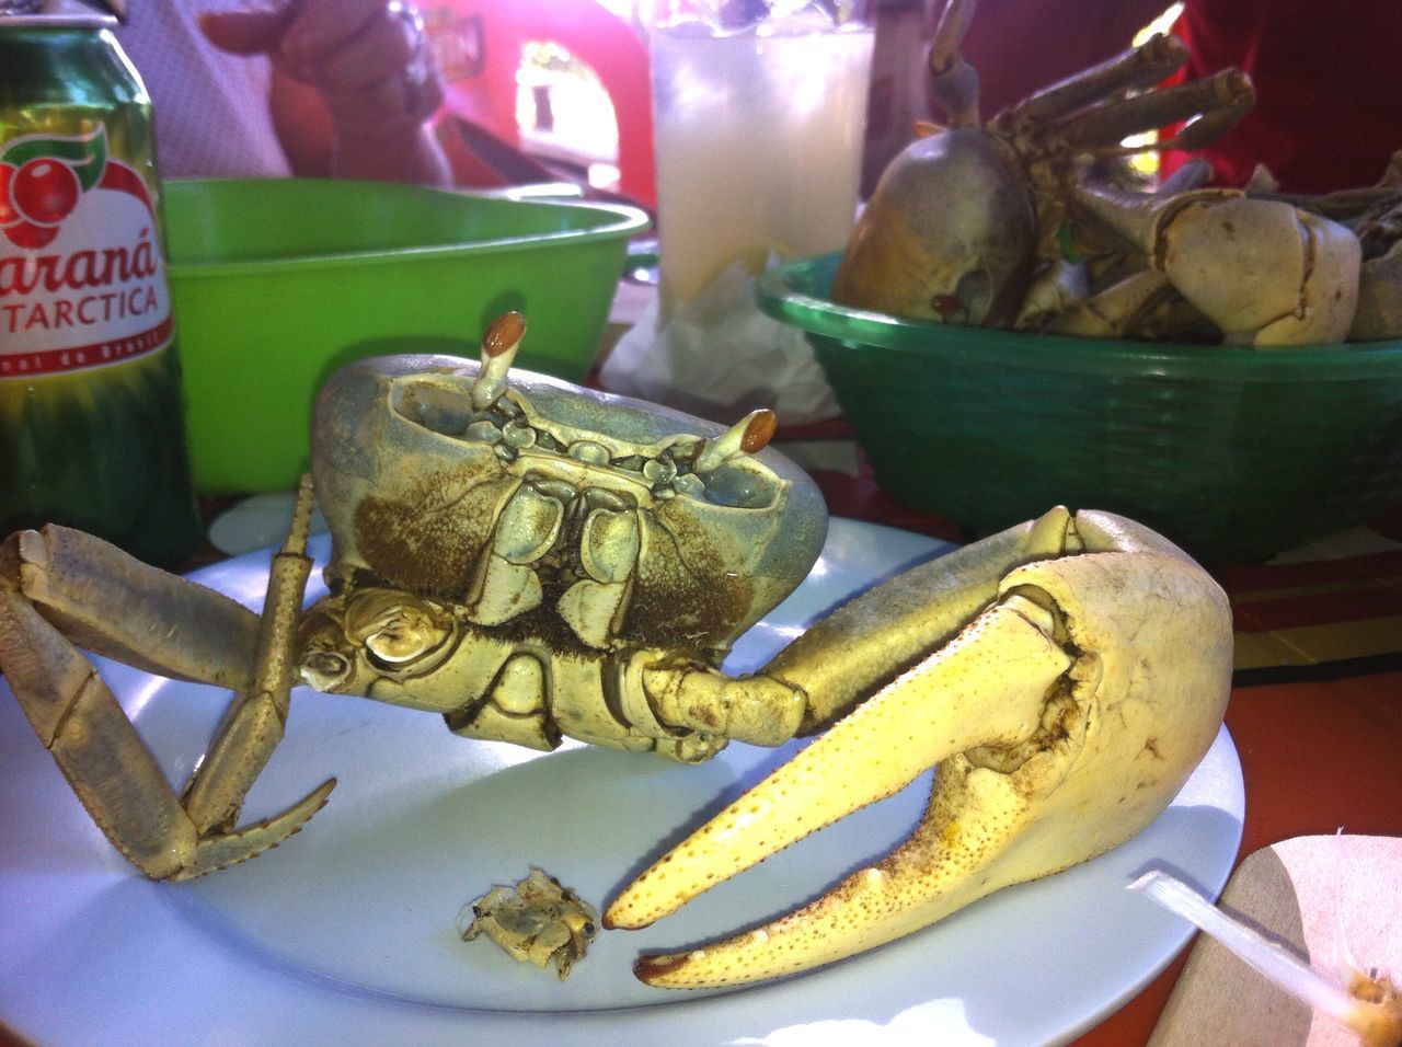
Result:
{"type": "Polygon", "coordinates": [[[958,607],[991,583],[993,601],[663,855],[604,924],[651,924],[938,765],[920,826],[788,915],[644,956],[639,978],[735,985],[831,963],[1108,851],[1176,795],[1231,683],[1231,614],[1211,577],[1158,534],[1095,512],[1053,510],[952,555],[959,563],[897,576],[829,621],[843,629],[864,607],[908,605],[921,587],[958,607]]]}

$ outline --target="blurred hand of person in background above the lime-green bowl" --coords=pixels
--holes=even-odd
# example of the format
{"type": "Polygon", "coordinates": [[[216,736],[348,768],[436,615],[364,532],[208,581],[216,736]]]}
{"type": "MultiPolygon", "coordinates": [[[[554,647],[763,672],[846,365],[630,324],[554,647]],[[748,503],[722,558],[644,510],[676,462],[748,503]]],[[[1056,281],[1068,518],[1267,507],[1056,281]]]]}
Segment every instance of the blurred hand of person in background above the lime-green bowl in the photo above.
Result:
{"type": "Polygon", "coordinates": [[[408,0],[287,0],[199,22],[220,50],[265,53],[314,87],[345,130],[418,126],[443,101],[423,20],[408,0]]]}

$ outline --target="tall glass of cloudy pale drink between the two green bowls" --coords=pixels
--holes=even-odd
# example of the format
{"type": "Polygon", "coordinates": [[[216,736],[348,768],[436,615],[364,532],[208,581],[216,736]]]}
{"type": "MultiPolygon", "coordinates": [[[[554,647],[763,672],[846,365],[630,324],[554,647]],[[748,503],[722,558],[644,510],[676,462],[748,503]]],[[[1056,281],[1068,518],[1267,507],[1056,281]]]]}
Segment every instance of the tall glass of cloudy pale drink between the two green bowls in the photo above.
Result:
{"type": "Polygon", "coordinates": [[[653,32],[663,321],[732,262],[847,244],[871,55],[861,24],[653,32]]]}

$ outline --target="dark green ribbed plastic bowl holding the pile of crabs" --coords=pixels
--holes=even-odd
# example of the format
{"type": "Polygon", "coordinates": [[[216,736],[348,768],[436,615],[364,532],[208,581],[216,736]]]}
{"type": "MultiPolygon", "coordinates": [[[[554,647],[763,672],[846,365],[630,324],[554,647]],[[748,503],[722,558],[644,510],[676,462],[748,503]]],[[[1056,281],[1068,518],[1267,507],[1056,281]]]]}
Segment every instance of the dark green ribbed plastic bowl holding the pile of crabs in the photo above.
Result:
{"type": "Polygon", "coordinates": [[[1260,559],[1402,500],[1402,342],[1227,349],[904,321],[827,299],[837,256],[760,280],[876,482],[988,534],[1108,509],[1206,561],[1260,559]]]}

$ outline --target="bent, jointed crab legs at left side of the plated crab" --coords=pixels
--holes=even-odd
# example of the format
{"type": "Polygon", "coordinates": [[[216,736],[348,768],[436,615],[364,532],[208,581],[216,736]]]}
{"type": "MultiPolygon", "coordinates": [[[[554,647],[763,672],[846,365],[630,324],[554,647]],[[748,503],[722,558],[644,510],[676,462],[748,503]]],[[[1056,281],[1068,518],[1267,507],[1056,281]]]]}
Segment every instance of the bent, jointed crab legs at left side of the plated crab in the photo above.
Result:
{"type": "MultiPolygon", "coordinates": [[[[310,503],[308,503],[310,510],[310,503]]],[[[306,542],[304,530],[289,538],[306,542]]],[[[275,572],[276,573],[276,572],[275,572]]],[[[303,575],[304,579],[304,575],[303,575]]],[[[287,812],[237,833],[209,827],[229,810],[229,789],[196,786],[215,798],[196,800],[192,819],[146,748],[116,697],[74,641],[111,657],[175,678],[234,687],[236,712],[226,716],[206,769],[230,760],[248,739],[243,697],[276,692],[286,635],[300,607],[300,584],[283,584],[269,598],[262,624],[231,600],[184,579],[147,568],[115,548],[66,528],[13,535],[0,548],[0,664],[39,740],[108,840],[151,879],[186,879],[251,858],[294,833],[325,802],[328,782],[287,812]],[[105,565],[105,570],[97,569],[105,565]],[[100,608],[123,607],[104,615],[100,608]],[[289,610],[290,608],[290,610],[289,610]],[[207,653],[202,649],[209,643],[207,653]],[[273,652],[257,656],[257,652],[273,652]],[[144,652],[144,655],[137,655],[144,652]],[[255,669],[252,677],[250,667],[255,669]]],[[[286,708],[286,687],[282,687],[286,708]]],[[[272,699],[276,705],[276,698],[272,699]]],[[[254,741],[262,765],[271,744],[254,741]]],[[[254,732],[257,733],[257,732],[254,732]]],[[[257,768],[238,782],[247,791],[257,768]]],[[[241,792],[238,796],[241,798],[241,792]]],[[[237,809],[237,802],[234,803],[237,809]]]]}

